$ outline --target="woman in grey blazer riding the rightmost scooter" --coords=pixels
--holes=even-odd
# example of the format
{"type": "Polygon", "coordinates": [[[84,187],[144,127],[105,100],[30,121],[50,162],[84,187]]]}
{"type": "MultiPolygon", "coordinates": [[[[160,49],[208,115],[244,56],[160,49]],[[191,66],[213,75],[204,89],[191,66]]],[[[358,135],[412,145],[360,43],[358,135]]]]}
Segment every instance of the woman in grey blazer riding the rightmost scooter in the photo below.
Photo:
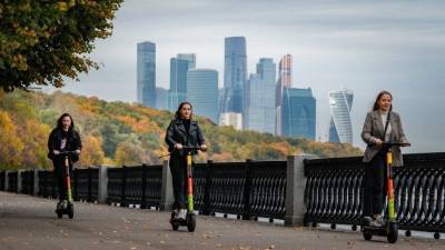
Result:
{"type": "MultiPolygon", "coordinates": [[[[388,91],[378,93],[373,111],[366,116],[362,139],[367,144],[363,161],[367,163],[365,178],[364,216],[373,216],[374,224],[380,226],[386,196],[386,151],[384,142],[409,144],[402,128],[400,116],[393,111],[393,96],[388,91]]],[[[399,147],[393,147],[393,166],[403,166],[399,147]]]]}

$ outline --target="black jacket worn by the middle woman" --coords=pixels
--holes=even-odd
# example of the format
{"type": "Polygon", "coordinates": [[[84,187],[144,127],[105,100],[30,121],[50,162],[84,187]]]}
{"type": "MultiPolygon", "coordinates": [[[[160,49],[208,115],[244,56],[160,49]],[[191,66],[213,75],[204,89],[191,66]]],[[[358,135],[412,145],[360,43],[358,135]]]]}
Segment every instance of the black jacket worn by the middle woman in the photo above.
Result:
{"type": "MultiPolygon", "coordinates": [[[[181,143],[187,147],[197,147],[204,144],[205,140],[202,131],[196,121],[190,121],[190,129],[187,133],[182,120],[175,119],[168,126],[166,142],[168,144],[168,151],[171,152],[172,156],[184,156],[184,150],[175,150],[176,143],[181,143]]],[[[196,154],[196,151],[194,151],[192,154],[196,154]]]]}

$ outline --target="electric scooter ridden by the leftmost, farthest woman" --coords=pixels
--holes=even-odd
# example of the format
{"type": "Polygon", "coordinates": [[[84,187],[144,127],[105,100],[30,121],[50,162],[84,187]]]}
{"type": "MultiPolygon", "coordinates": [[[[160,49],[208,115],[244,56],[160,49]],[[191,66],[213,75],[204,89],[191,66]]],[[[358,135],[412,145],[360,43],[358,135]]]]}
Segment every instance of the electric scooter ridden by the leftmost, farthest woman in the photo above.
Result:
{"type": "Polygon", "coordinates": [[[70,157],[76,154],[76,151],[62,151],[59,156],[65,157],[65,177],[67,182],[67,204],[63,206],[61,203],[57,204],[56,213],[57,218],[61,219],[63,214],[68,214],[68,218],[72,219],[75,217],[75,204],[72,202],[71,196],[71,173],[69,169],[70,157]]]}

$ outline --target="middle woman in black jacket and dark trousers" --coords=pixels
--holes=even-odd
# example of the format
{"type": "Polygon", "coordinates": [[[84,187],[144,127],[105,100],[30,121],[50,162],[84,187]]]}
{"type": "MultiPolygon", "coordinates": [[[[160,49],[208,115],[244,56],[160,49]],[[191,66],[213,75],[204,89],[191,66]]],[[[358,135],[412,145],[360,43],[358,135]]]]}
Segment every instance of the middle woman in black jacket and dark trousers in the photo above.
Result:
{"type": "MultiPolygon", "coordinates": [[[[175,113],[175,120],[167,129],[166,142],[170,154],[170,171],[174,184],[175,208],[178,209],[178,218],[186,219],[186,153],[182,147],[200,147],[207,150],[202,132],[196,121],[192,120],[192,110],[189,102],[179,104],[175,113]]],[[[196,151],[191,152],[196,154],[196,151]]]]}

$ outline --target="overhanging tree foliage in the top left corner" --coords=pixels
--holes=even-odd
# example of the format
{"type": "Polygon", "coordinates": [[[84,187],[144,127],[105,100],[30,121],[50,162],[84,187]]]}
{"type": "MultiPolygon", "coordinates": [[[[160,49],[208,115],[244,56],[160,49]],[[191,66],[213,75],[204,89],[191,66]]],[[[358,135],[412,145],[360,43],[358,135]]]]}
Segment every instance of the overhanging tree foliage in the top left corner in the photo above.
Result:
{"type": "Polygon", "coordinates": [[[0,87],[62,87],[98,64],[86,54],[95,39],[111,34],[122,0],[2,1],[0,3],[0,87]]]}

